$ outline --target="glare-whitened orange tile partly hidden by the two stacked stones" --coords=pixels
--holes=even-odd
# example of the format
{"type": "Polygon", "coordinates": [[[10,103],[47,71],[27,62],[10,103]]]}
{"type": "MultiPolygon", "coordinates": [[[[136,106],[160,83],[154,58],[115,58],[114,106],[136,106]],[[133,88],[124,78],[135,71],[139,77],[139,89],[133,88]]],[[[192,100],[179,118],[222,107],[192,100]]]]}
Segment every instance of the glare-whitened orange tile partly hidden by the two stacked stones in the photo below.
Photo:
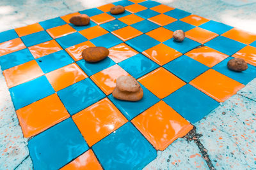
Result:
{"type": "Polygon", "coordinates": [[[99,73],[93,74],[91,79],[106,95],[109,95],[116,87],[116,78],[120,76],[129,76],[129,73],[122,69],[122,67],[114,65],[99,73]]]}

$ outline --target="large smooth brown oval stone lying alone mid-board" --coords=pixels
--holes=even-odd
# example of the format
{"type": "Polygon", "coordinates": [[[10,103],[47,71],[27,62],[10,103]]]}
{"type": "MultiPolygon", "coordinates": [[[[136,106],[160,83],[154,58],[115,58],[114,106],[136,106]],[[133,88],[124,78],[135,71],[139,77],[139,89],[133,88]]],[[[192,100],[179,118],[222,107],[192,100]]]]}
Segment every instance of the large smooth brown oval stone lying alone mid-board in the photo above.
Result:
{"type": "Polygon", "coordinates": [[[108,48],[103,46],[88,47],[82,52],[82,57],[87,62],[98,62],[109,55],[108,48]]]}

